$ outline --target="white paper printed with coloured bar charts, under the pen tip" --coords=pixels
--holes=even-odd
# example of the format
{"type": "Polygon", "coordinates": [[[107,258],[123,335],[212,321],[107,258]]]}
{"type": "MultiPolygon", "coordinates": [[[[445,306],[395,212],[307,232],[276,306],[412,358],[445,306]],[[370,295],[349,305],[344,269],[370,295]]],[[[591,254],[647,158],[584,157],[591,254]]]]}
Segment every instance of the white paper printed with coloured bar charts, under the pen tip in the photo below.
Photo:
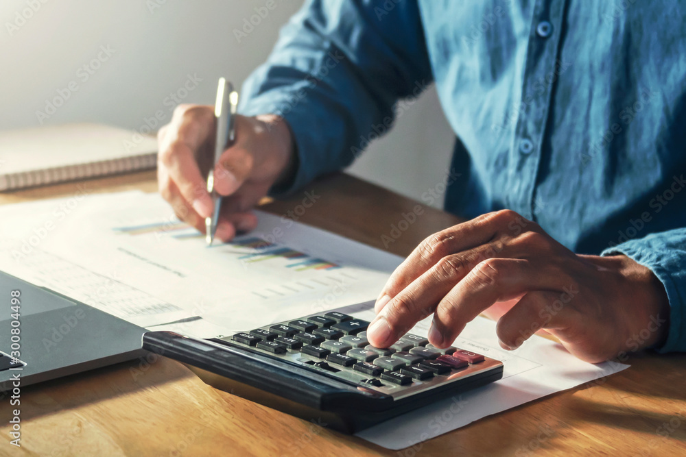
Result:
{"type": "Polygon", "coordinates": [[[0,268],[145,327],[203,317],[207,325],[193,324],[193,335],[209,337],[215,328],[237,332],[375,298],[401,262],[257,214],[255,232],[208,248],[156,194],[5,206],[0,217],[13,223],[0,268]]]}

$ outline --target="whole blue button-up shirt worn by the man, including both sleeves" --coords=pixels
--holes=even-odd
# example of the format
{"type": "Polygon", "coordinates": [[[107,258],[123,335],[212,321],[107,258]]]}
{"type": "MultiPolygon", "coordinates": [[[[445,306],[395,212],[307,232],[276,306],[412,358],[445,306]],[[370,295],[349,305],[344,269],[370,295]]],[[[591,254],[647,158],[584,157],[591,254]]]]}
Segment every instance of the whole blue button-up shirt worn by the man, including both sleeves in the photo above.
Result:
{"type": "Polygon", "coordinates": [[[671,306],[659,349],[684,351],[685,31],[676,0],[307,1],[241,112],[292,128],[299,168],[274,190],[288,192],[436,84],[457,137],[445,209],[510,208],[573,251],[646,265],[671,306]]]}

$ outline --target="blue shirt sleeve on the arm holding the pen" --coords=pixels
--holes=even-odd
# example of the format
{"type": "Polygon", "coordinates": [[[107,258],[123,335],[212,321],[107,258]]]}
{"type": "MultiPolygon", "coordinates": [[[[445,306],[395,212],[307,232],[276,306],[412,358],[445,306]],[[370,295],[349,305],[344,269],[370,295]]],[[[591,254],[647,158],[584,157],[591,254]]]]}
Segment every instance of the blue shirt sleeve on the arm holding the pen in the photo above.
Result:
{"type": "Polygon", "coordinates": [[[350,164],[394,104],[431,83],[416,2],[307,1],[246,80],[239,112],[287,121],[298,169],[282,195],[350,164]]]}

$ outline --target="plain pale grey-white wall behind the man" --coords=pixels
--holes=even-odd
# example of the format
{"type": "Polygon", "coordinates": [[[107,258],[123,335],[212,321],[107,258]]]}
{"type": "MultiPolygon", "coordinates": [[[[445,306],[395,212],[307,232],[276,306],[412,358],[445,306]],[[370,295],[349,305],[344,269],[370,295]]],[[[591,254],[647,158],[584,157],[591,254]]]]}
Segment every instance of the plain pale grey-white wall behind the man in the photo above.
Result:
{"type": "MultiPolygon", "coordinates": [[[[267,0],[43,1],[0,2],[0,129],[41,120],[140,129],[158,110],[171,119],[172,93],[211,104],[217,78],[243,82],[302,3],[276,0],[238,42],[234,29],[267,0]],[[185,94],[188,75],[202,81],[185,94]],[[49,114],[54,97],[67,100],[49,114]]],[[[452,143],[431,89],[349,171],[419,199],[445,177],[452,143]]]]}

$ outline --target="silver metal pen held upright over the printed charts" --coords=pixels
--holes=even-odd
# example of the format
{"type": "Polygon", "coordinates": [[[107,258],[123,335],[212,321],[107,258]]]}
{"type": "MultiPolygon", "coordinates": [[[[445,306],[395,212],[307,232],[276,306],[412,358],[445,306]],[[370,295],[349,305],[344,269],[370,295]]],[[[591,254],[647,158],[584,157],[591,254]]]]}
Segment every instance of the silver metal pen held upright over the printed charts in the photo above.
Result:
{"type": "MultiPolygon", "coordinates": [[[[224,153],[224,149],[229,147],[236,136],[235,117],[238,107],[238,92],[233,90],[233,84],[226,81],[223,77],[219,79],[217,87],[217,101],[215,101],[215,118],[217,119],[217,140],[215,141],[215,158],[213,164],[219,162],[219,158],[224,153]]],[[[207,192],[214,203],[214,211],[211,217],[205,218],[205,241],[208,246],[212,245],[215,232],[217,232],[217,221],[219,220],[219,210],[222,206],[222,197],[214,190],[214,166],[207,174],[207,192]]]]}

